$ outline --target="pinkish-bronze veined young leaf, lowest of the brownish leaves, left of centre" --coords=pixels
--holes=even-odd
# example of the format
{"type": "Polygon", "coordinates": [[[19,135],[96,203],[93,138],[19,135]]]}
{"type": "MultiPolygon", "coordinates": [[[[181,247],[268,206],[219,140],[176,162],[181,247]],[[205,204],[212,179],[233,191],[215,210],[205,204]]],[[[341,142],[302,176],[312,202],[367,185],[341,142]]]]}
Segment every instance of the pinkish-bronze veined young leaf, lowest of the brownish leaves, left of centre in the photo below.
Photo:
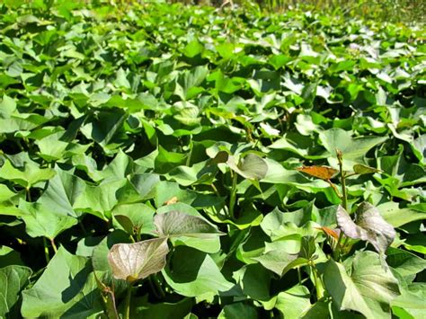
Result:
{"type": "Polygon", "coordinates": [[[167,253],[167,240],[155,238],[135,244],[114,244],[108,261],[116,279],[133,282],[162,270],[167,253]]]}

